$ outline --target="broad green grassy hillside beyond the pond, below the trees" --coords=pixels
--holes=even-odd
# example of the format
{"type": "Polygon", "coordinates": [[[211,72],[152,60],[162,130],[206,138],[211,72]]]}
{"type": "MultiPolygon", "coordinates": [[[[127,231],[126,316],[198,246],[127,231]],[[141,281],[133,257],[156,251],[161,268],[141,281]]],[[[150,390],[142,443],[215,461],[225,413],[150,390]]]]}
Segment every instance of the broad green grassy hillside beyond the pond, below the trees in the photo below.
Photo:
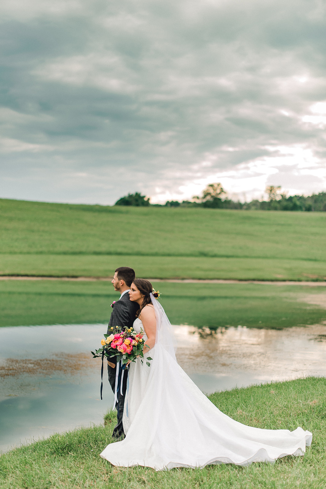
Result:
{"type": "Polygon", "coordinates": [[[0,274],[324,280],[326,213],[0,200],[0,274]]]}

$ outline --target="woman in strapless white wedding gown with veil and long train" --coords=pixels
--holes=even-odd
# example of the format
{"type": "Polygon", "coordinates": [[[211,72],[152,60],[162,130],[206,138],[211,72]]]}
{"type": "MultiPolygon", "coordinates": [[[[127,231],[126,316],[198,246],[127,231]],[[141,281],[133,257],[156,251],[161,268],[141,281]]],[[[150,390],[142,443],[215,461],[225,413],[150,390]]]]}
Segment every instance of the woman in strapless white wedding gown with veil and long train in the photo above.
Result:
{"type": "Polygon", "coordinates": [[[309,431],[246,426],[207,399],[178,365],[171,324],[152,290],[148,280],[135,279],[129,291],[140,305],[134,329],[144,330],[144,357],[152,360],[149,367],[145,359],[130,364],[122,421],[126,437],[107,445],[101,457],[120,467],[168,470],[304,455],[309,431]]]}

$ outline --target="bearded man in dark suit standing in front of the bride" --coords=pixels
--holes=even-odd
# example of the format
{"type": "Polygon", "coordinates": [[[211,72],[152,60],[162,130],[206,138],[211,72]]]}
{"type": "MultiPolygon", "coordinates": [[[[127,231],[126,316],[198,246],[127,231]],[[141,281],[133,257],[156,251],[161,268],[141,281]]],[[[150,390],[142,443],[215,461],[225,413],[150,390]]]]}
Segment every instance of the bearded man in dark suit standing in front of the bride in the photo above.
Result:
{"type": "MultiPolygon", "coordinates": [[[[131,302],[129,299],[128,291],[130,290],[130,286],[132,282],[135,280],[135,271],[133,268],[129,267],[119,267],[116,269],[114,273],[114,277],[112,280],[112,284],[114,290],[120,292],[119,300],[115,301],[112,304],[113,310],[111,312],[110,322],[107,328],[107,334],[111,334],[111,327],[113,326],[121,326],[124,328],[127,326],[130,328],[135,319],[136,312],[139,309],[139,304],[136,302],[131,302]]],[[[118,367],[119,368],[119,367],[118,367]]],[[[114,356],[107,361],[107,373],[110,385],[112,387],[113,392],[115,391],[115,383],[116,383],[116,372],[117,372],[117,358],[114,356]]],[[[117,425],[114,427],[112,437],[120,438],[124,437],[124,431],[122,426],[122,415],[123,415],[123,404],[124,404],[124,396],[126,392],[127,385],[127,376],[123,376],[123,385],[122,392],[123,395],[120,394],[119,397],[119,417],[117,416],[117,425]]],[[[116,408],[118,408],[118,402],[116,403],[116,408]]]]}

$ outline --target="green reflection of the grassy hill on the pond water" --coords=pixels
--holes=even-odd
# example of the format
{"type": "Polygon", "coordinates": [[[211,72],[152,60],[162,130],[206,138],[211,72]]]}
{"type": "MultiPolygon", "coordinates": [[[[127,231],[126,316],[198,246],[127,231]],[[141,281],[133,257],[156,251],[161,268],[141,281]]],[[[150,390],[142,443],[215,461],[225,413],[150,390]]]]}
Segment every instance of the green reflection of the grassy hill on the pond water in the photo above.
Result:
{"type": "MultiPolygon", "coordinates": [[[[320,323],[326,310],[304,300],[326,287],[155,282],[172,324],[285,328],[320,323]]],[[[0,281],[0,326],[108,323],[110,282],[0,281]]]]}

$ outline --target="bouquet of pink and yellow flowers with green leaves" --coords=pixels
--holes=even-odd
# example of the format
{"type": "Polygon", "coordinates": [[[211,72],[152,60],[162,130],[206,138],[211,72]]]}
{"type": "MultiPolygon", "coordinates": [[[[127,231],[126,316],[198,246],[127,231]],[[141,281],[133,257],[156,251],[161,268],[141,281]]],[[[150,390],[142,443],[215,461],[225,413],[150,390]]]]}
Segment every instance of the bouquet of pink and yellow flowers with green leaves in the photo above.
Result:
{"type": "MultiPolygon", "coordinates": [[[[102,347],[91,352],[93,358],[106,356],[107,358],[117,357],[117,364],[122,360],[122,365],[129,361],[134,362],[139,356],[143,363],[143,335],[144,332],[141,329],[140,333],[136,333],[133,328],[122,328],[121,326],[115,326],[111,328],[111,334],[104,334],[104,338],[101,340],[102,347]]],[[[150,366],[148,360],[152,360],[150,356],[146,358],[146,365],[150,366]]]]}

